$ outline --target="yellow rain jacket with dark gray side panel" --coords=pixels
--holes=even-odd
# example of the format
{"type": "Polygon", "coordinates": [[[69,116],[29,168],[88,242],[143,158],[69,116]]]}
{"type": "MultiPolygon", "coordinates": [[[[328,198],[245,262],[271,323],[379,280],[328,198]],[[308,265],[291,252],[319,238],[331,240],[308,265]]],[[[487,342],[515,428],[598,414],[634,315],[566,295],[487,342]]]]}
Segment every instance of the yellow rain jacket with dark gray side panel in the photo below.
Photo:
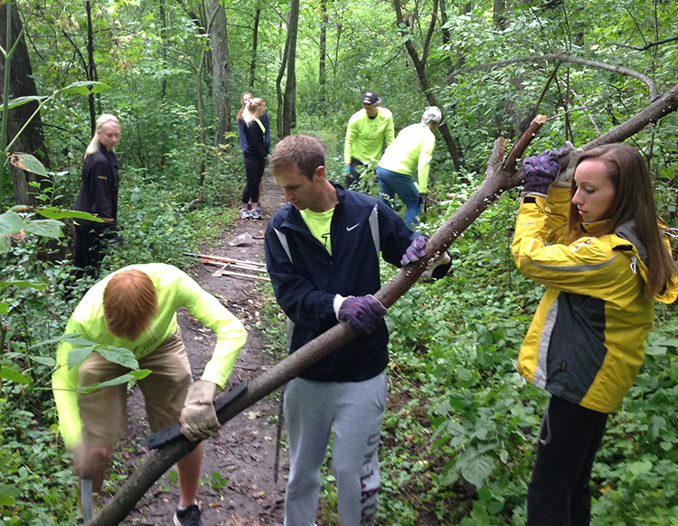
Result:
{"type": "Polygon", "coordinates": [[[515,264],[547,286],[523,341],[518,372],[554,396],[609,413],[643,364],[654,299],[673,303],[678,279],[673,276],[661,296],[650,296],[645,247],[633,224],[593,237],[584,223],[578,240],[559,244],[569,206],[570,189],[551,188],[547,198],[523,197],[518,211],[515,264]]]}

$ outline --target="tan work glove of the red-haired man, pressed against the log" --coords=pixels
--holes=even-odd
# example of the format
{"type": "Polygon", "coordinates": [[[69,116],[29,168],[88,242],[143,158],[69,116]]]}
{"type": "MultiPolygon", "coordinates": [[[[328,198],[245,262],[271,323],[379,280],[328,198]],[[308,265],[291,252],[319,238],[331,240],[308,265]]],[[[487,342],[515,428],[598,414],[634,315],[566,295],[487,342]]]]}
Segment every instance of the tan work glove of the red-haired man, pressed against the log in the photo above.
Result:
{"type": "Polygon", "coordinates": [[[197,380],[188,388],[184,409],[179,418],[184,437],[193,442],[207,437],[219,437],[221,424],[213,403],[216,394],[217,385],[212,381],[197,380]]]}

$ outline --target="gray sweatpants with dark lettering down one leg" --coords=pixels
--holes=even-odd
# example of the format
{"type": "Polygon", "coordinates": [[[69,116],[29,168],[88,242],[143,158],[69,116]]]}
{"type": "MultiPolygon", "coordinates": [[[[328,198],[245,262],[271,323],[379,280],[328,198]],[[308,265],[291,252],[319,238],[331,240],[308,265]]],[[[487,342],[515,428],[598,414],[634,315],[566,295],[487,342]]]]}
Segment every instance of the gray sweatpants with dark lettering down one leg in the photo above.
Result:
{"type": "Polygon", "coordinates": [[[295,378],[285,388],[289,480],[284,526],[313,526],[320,465],[334,428],[332,471],[342,526],[374,523],[379,492],[379,440],[386,373],[357,382],[295,378]]]}

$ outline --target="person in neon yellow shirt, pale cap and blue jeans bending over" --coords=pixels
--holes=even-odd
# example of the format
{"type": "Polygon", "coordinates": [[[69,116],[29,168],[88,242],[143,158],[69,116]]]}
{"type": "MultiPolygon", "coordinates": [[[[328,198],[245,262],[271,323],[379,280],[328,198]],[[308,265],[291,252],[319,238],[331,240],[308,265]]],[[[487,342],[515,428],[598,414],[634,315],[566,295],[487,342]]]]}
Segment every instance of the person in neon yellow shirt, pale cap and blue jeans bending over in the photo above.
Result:
{"type": "Polygon", "coordinates": [[[405,222],[410,228],[417,221],[426,197],[428,171],[433,148],[436,146],[433,130],[440,126],[442,119],[442,113],[437,106],[426,108],[421,122],[401,130],[377,164],[381,201],[391,206],[397,193],[407,207],[405,222]],[[415,168],[419,176],[419,184],[416,186],[411,177],[415,168]]]}

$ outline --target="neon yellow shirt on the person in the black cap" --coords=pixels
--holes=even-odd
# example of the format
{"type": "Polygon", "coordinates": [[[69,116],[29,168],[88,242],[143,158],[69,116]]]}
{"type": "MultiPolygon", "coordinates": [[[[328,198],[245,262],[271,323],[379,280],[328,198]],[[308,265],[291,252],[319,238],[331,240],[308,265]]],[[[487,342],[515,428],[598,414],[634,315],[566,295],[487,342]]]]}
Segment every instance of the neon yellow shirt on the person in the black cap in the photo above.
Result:
{"type": "Polygon", "coordinates": [[[391,110],[377,108],[377,117],[370,118],[361,109],[351,116],[346,127],[344,164],[351,164],[352,157],[365,164],[377,164],[383,143],[391,145],[394,136],[391,110]]]}

